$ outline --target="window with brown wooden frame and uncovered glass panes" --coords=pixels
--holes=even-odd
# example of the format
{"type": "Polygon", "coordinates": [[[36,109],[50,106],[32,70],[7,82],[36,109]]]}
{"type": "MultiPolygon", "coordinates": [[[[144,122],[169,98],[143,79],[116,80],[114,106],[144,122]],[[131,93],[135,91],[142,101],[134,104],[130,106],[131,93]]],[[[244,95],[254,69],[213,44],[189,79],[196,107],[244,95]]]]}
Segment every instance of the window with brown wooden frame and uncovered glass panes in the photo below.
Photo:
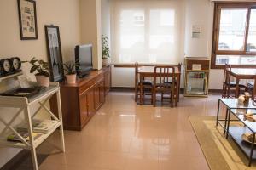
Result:
{"type": "Polygon", "coordinates": [[[212,68],[256,67],[256,3],[215,3],[212,68]]]}

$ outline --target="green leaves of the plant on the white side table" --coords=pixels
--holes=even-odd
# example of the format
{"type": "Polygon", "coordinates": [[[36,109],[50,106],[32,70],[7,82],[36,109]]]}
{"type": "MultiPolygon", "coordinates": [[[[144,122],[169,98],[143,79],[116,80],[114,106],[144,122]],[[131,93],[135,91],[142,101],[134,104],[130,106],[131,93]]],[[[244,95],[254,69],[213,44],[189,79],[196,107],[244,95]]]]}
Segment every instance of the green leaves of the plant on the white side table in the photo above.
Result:
{"type": "Polygon", "coordinates": [[[32,65],[30,69],[30,73],[38,71],[35,75],[36,76],[45,76],[49,77],[49,64],[45,62],[43,59],[36,59],[33,57],[30,61],[22,61],[22,63],[30,63],[32,65]]]}

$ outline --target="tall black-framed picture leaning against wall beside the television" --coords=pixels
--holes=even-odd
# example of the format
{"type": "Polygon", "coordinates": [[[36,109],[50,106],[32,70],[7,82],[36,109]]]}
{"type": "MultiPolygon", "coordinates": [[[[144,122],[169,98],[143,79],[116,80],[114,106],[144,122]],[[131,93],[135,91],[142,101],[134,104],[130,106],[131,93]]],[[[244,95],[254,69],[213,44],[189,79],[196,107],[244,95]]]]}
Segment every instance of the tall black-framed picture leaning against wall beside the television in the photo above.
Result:
{"type": "Polygon", "coordinates": [[[44,26],[44,28],[49,59],[50,81],[61,82],[64,79],[64,71],[59,26],[44,26]]]}

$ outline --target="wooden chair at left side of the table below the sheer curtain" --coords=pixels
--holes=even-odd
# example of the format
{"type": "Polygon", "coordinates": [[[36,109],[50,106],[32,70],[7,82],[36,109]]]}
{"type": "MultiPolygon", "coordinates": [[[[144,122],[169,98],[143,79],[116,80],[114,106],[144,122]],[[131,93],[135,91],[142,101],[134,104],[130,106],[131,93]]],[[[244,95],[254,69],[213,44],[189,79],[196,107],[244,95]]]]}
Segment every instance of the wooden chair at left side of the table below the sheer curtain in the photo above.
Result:
{"type": "Polygon", "coordinates": [[[143,105],[144,99],[150,99],[153,104],[153,82],[145,80],[144,77],[139,77],[138,63],[135,63],[135,101],[137,102],[138,96],[140,99],[140,105],[143,105]],[[149,96],[149,98],[147,98],[149,96]]]}

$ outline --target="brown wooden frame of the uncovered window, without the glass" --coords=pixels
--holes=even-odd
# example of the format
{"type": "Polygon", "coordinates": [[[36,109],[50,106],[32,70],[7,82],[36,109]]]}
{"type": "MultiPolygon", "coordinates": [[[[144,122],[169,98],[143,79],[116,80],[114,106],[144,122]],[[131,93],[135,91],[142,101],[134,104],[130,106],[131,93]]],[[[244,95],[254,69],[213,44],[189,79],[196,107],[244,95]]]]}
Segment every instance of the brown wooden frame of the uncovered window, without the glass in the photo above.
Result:
{"type": "MultiPolygon", "coordinates": [[[[249,33],[249,23],[251,9],[256,9],[256,3],[215,3],[214,4],[214,19],[213,19],[213,33],[212,33],[212,59],[211,68],[212,69],[223,69],[224,65],[216,64],[217,55],[244,55],[251,56],[255,55],[256,52],[247,51],[247,40],[249,33]],[[247,8],[247,20],[245,29],[245,39],[244,39],[244,49],[243,50],[219,50],[218,49],[218,38],[219,38],[219,28],[220,28],[220,15],[222,8],[247,8]]],[[[237,56],[239,57],[239,56],[237,56]]],[[[232,67],[239,68],[256,68],[256,65],[232,65],[232,67]]]]}

